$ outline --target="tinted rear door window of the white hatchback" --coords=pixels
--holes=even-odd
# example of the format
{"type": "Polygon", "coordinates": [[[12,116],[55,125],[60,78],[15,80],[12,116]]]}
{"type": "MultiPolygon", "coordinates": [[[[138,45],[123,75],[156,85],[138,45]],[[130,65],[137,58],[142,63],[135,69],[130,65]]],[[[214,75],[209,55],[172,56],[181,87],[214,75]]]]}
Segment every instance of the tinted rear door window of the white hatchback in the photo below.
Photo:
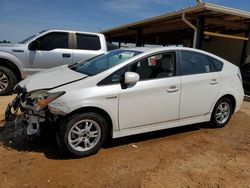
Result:
{"type": "Polygon", "coordinates": [[[181,51],[181,75],[209,73],[213,71],[209,56],[197,52],[181,51]]]}

